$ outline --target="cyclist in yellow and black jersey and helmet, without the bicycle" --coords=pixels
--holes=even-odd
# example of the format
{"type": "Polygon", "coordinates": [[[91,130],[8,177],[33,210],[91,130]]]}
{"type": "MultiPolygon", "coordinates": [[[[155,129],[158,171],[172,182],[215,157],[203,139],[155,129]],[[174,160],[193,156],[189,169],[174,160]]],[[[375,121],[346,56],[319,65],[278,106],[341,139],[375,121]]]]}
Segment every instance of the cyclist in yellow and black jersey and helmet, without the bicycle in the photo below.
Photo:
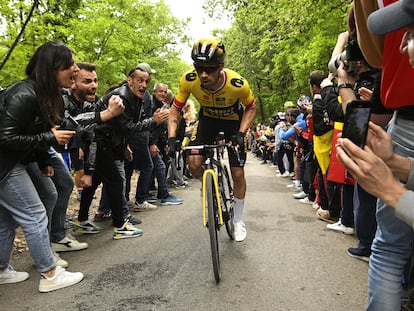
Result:
{"type": "MultiPolygon", "coordinates": [[[[194,69],[183,74],[178,93],[174,97],[168,119],[169,155],[175,156],[176,130],[180,111],[190,94],[200,103],[199,120],[191,135],[190,145],[212,144],[218,132],[223,131],[226,141],[238,146],[240,161],[234,150],[229,149],[229,163],[234,182],[234,239],[246,238],[243,222],[246,179],[246,132],[256,116],[256,100],[246,79],[237,72],[224,68],[226,52],[219,38],[200,39],[194,43],[191,58],[194,69]]],[[[191,174],[201,178],[203,155],[188,157],[191,174]]]]}

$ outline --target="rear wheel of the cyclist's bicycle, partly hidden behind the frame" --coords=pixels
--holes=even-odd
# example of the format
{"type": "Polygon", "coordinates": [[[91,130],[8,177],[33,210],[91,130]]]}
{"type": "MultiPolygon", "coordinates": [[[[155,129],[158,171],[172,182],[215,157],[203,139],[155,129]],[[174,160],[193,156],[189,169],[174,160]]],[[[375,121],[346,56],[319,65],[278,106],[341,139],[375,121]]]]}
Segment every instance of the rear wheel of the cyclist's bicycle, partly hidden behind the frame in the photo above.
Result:
{"type": "Polygon", "coordinates": [[[233,197],[233,186],[231,185],[231,179],[229,175],[229,171],[226,165],[223,165],[223,171],[221,174],[221,202],[223,207],[223,218],[224,218],[224,225],[226,226],[227,234],[229,235],[230,239],[234,240],[234,224],[233,224],[233,216],[234,216],[234,197],[233,197]]]}

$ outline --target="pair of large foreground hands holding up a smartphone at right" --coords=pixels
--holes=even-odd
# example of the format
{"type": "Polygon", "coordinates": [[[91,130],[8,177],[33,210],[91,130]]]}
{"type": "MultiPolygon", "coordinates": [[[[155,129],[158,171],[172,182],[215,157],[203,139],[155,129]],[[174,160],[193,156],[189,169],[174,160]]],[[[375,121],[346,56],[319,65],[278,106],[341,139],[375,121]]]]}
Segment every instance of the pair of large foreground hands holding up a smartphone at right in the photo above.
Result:
{"type": "Polygon", "coordinates": [[[396,215],[414,227],[414,191],[408,190],[414,189],[414,159],[394,153],[391,136],[369,122],[364,149],[340,138],[337,152],[338,159],[366,191],[395,208],[396,215]]]}

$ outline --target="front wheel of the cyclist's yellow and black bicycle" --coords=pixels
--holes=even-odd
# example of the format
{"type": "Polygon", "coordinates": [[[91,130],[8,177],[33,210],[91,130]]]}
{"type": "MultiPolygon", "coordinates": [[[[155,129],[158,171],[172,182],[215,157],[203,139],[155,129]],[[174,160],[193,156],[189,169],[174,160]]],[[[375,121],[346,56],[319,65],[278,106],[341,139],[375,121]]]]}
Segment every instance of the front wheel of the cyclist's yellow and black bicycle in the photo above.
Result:
{"type": "Polygon", "coordinates": [[[220,258],[218,246],[218,219],[217,219],[217,201],[215,200],[215,191],[213,176],[206,176],[206,195],[207,195],[207,213],[208,213],[208,232],[210,234],[211,259],[213,261],[213,272],[216,283],[220,282],[220,258]]]}

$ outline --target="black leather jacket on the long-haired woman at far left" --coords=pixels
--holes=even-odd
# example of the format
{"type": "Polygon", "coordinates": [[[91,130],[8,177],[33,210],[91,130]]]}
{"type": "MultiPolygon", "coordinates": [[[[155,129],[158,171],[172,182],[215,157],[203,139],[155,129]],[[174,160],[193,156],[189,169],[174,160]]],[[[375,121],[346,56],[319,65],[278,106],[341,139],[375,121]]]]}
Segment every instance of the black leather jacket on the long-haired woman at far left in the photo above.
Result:
{"type": "Polygon", "coordinates": [[[31,79],[19,81],[0,94],[0,182],[17,163],[48,165],[48,149],[57,144],[44,120],[31,79]]]}

